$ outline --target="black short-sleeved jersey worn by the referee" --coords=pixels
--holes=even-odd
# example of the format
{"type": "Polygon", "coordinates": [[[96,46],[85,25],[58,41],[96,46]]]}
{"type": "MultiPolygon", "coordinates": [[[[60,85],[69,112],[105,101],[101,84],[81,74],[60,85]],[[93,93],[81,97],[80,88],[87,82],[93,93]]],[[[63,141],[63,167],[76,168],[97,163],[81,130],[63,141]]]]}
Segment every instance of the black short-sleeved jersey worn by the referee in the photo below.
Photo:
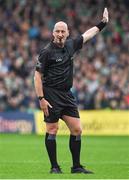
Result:
{"type": "Polygon", "coordinates": [[[41,49],[36,71],[43,75],[43,86],[68,91],[73,84],[73,55],[82,48],[83,37],[68,39],[63,48],[50,42],[41,49]]]}

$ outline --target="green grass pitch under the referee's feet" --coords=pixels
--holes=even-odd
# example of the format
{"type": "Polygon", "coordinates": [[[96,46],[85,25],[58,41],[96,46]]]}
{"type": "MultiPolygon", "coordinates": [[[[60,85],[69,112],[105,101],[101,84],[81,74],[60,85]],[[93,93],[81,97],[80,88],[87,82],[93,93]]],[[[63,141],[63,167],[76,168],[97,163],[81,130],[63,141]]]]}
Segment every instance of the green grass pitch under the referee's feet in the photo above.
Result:
{"type": "Polygon", "coordinates": [[[0,134],[0,179],[128,179],[128,136],[82,136],[81,162],[94,174],[71,174],[69,137],[57,136],[63,174],[49,174],[44,137],[0,134]]]}

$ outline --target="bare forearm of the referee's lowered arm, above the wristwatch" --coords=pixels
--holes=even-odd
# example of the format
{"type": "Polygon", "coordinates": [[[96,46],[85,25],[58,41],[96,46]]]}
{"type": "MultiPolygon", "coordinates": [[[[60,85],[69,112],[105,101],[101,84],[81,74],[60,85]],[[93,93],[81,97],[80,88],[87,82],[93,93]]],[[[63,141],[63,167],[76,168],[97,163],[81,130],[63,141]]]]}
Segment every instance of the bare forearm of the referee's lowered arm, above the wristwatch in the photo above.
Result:
{"type": "Polygon", "coordinates": [[[41,78],[41,74],[38,71],[35,71],[34,86],[35,86],[35,91],[36,91],[37,97],[44,96],[42,78],[41,78]]]}

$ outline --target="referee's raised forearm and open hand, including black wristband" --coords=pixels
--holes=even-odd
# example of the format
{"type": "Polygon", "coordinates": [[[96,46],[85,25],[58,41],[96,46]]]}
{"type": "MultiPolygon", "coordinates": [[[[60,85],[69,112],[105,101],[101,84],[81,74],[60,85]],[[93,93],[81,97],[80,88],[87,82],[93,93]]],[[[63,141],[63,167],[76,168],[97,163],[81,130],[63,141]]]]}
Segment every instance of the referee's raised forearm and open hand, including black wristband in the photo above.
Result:
{"type": "Polygon", "coordinates": [[[86,41],[94,37],[96,34],[98,34],[106,26],[108,20],[109,20],[108,10],[107,8],[104,8],[102,21],[98,25],[92,27],[91,29],[84,32],[84,34],[82,34],[83,43],[85,43],[86,41]]]}

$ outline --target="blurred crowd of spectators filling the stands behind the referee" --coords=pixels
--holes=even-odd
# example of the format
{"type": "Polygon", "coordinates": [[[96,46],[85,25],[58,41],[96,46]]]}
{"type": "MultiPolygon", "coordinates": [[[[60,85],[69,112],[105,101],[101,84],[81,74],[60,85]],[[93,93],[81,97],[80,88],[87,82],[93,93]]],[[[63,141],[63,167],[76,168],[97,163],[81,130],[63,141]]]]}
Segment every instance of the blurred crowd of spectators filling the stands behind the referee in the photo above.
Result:
{"type": "Polygon", "coordinates": [[[54,24],[68,23],[75,37],[110,21],[76,54],[72,91],[79,109],[129,109],[128,0],[0,0],[0,112],[39,108],[33,75],[54,24]]]}

